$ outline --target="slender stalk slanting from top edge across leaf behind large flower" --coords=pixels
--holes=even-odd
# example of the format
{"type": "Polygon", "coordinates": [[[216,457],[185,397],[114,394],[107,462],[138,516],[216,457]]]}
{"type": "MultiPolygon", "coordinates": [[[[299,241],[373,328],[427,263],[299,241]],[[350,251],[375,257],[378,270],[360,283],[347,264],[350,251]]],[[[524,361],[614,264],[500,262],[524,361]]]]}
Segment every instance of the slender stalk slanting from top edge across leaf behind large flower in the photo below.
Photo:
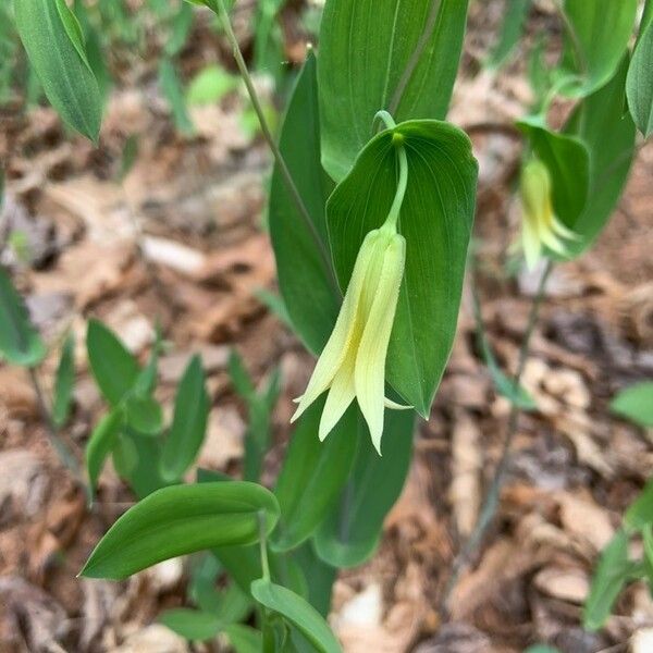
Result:
{"type": "Polygon", "coordinates": [[[333,287],[334,294],[337,297],[341,297],[342,293],[340,291],[337,280],[335,279],[335,273],[333,271],[333,266],[331,262],[331,255],[329,254],[324,243],[322,242],[322,238],[320,237],[320,234],[318,233],[316,225],[313,224],[313,221],[310,218],[310,213],[308,212],[308,209],[306,208],[306,205],[304,204],[304,200],[301,199],[301,195],[299,195],[299,190],[297,189],[297,186],[295,185],[295,181],[293,180],[293,175],[291,174],[287,163],[285,162],[285,159],[283,158],[283,155],[281,153],[281,150],[279,149],[279,145],[276,144],[274,136],[272,135],[270,125],[268,124],[268,120],[266,119],[266,114],[263,113],[261,102],[258,98],[258,94],[256,91],[256,88],[254,87],[254,83],[251,81],[251,75],[249,74],[249,70],[247,69],[245,59],[243,59],[243,52],[241,51],[241,46],[238,45],[238,40],[232,28],[231,21],[229,17],[229,12],[226,11],[226,8],[224,7],[224,0],[215,0],[214,5],[218,10],[218,15],[222,22],[222,26],[224,27],[226,38],[232,47],[233,56],[234,56],[234,59],[236,60],[236,65],[238,66],[238,71],[241,72],[243,82],[245,82],[245,86],[247,88],[247,93],[249,95],[251,106],[254,107],[256,115],[261,125],[261,131],[263,133],[263,137],[266,138],[268,146],[270,147],[270,150],[272,151],[274,161],[276,162],[276,165],[279,167],[279,171],[281,172],[281,175],[285,182],[286,188],[287,188],[288,193],[291,194],[293,201],[295,202],[295,206],[297,207],[299,215],[301,217],[301,220],[303,220],[306,229],[309,231],[311,238],[315,241],[318,251],[320,252],[322,263],[326,270],[326,274],[328,274],[331,285],[333,287]]]}

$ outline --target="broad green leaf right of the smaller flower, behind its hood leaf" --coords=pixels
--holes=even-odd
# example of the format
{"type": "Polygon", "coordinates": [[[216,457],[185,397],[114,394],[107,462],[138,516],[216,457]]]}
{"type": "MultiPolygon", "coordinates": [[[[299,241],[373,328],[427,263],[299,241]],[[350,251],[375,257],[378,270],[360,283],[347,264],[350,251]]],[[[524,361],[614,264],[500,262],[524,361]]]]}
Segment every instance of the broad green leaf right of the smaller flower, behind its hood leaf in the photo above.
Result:
{"type": "Polygon", "coordinates": [[[634,155],[634,124],[624,112],[628,59],[603,88],[583,99],[565,131],[580,138],[590,153],[589,193],[581,214],[568,223],[581,236],[568,249],[580,254],[601,233],[617,205],[634,155]]]}

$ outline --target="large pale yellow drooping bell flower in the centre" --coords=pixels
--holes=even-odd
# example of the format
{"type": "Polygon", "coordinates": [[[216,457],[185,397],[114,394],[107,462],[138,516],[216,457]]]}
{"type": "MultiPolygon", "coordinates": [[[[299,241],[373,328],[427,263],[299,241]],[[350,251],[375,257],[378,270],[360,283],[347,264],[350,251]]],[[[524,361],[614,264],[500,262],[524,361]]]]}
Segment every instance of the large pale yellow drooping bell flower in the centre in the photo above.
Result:
{"type": "Polygon", "coordinates": [[[369,232],[362,242],[333,332],[291,420],[328,390],[320,440],[356,397],[380,455],[384,407],[404,408],[385,398],[385,357],[405,257],[406,241],[393,221],[369,232]]]}

